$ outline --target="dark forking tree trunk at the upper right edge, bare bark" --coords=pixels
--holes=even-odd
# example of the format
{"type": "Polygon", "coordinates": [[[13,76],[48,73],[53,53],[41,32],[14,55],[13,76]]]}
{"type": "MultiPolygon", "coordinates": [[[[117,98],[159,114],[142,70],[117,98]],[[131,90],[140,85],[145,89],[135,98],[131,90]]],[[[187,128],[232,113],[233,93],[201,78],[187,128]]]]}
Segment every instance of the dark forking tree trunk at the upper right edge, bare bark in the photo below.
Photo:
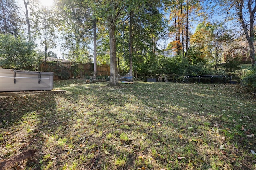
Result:
{"type": "Polygon", "coordinates": [[[255,61],[255,51],[254,51],[254,14],[256,12],[256,4],[254,4],[253,10],[252,10],[252,0],[248,0],[248,12],[250,14],[250,30],[247,29],[246,24],[244,23],[244,17],[243,17],[243,5],[244,5],[244,0],[236,0],[236,5],[237,8],[239,10],[238,12],[238,16],[239,16],[239,20],[242,24],[246,39],[248,41],[248,45],[249,45],[249,52],[250,52],[250,59],[252,62],[252,66],[256,65],[256,61],[255,61]],[[249,35],[249,33],[250,35],[249,35]]]}

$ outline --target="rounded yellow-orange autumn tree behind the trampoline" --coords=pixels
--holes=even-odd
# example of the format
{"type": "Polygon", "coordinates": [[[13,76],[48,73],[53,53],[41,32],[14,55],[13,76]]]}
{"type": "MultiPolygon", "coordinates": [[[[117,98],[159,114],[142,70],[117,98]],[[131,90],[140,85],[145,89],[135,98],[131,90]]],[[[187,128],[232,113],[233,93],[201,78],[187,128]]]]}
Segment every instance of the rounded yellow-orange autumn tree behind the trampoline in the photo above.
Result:
{"type": "Polygon", "coordinates": [[[223,58],[224,46],[228,46],[232,40],[230,31],[224,27],[223,23],[202,22],[191,36],[191,49],[194,51],[190,52],[196,53],[196,58],[192,53],[188,57],[192,63],[208,61],[217,70],[217,66],[223,58]]]}

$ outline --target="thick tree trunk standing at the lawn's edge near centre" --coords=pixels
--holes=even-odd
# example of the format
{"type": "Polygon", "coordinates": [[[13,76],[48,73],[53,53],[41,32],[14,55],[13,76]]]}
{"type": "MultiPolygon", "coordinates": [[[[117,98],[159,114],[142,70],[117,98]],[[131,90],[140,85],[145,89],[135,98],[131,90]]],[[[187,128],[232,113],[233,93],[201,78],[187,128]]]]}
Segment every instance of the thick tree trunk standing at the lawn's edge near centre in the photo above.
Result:
{"type": "Polygon", "coordinates": [[[118,70],[116,62],[116,37],[115,37],[115,25],[110,25],[109,32],[109,48],[110,48],[110,86],[118,86],[118,70]]]}

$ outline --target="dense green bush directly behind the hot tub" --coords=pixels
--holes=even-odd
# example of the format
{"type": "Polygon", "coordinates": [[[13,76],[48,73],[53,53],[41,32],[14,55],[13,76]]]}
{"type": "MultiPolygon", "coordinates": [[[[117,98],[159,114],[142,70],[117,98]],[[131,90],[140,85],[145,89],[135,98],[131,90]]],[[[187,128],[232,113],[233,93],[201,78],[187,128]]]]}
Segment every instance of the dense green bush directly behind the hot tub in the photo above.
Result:
{"type": "Polygon", "coordinates": [[[32,70],[37,63],[36,45],[21,36],[0,34],[0,66],[2,68],[32,70]]]}

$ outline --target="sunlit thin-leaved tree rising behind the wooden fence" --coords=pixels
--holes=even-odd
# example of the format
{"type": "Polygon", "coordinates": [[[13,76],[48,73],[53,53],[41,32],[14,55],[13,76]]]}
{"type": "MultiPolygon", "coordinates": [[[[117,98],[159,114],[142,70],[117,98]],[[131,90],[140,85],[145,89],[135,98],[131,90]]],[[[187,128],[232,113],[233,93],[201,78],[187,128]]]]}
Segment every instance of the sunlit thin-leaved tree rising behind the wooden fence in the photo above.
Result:
{"type": "Polygon", "coordinates": [[[88,56],[88,30],[91,10],[88,1],[60,0],[57,2],[56,25],[62,31],[65,42],[64,49],[69,50],[68,58],[74,62],[89,60],[88,56]]]}

